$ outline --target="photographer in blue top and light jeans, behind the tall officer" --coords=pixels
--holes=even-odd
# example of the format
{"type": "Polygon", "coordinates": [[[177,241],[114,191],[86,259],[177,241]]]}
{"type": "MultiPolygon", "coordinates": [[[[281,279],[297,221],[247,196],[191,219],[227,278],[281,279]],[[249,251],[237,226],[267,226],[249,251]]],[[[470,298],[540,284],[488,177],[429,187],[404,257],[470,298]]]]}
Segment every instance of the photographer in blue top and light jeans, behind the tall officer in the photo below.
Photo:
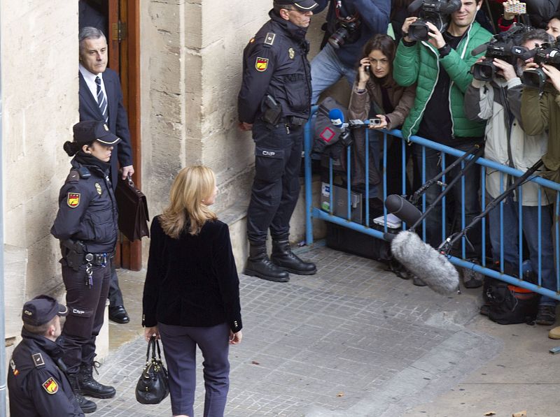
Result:
{"type": "Polygon", "coordinates": [[[349,85],[356,78],[356,57],[374,34],[386,34],[391,0],[317,0],[313,10],[320,13],[327,5],[323,48],[311,61],[311,103],[345,77],[349,85]]]}

